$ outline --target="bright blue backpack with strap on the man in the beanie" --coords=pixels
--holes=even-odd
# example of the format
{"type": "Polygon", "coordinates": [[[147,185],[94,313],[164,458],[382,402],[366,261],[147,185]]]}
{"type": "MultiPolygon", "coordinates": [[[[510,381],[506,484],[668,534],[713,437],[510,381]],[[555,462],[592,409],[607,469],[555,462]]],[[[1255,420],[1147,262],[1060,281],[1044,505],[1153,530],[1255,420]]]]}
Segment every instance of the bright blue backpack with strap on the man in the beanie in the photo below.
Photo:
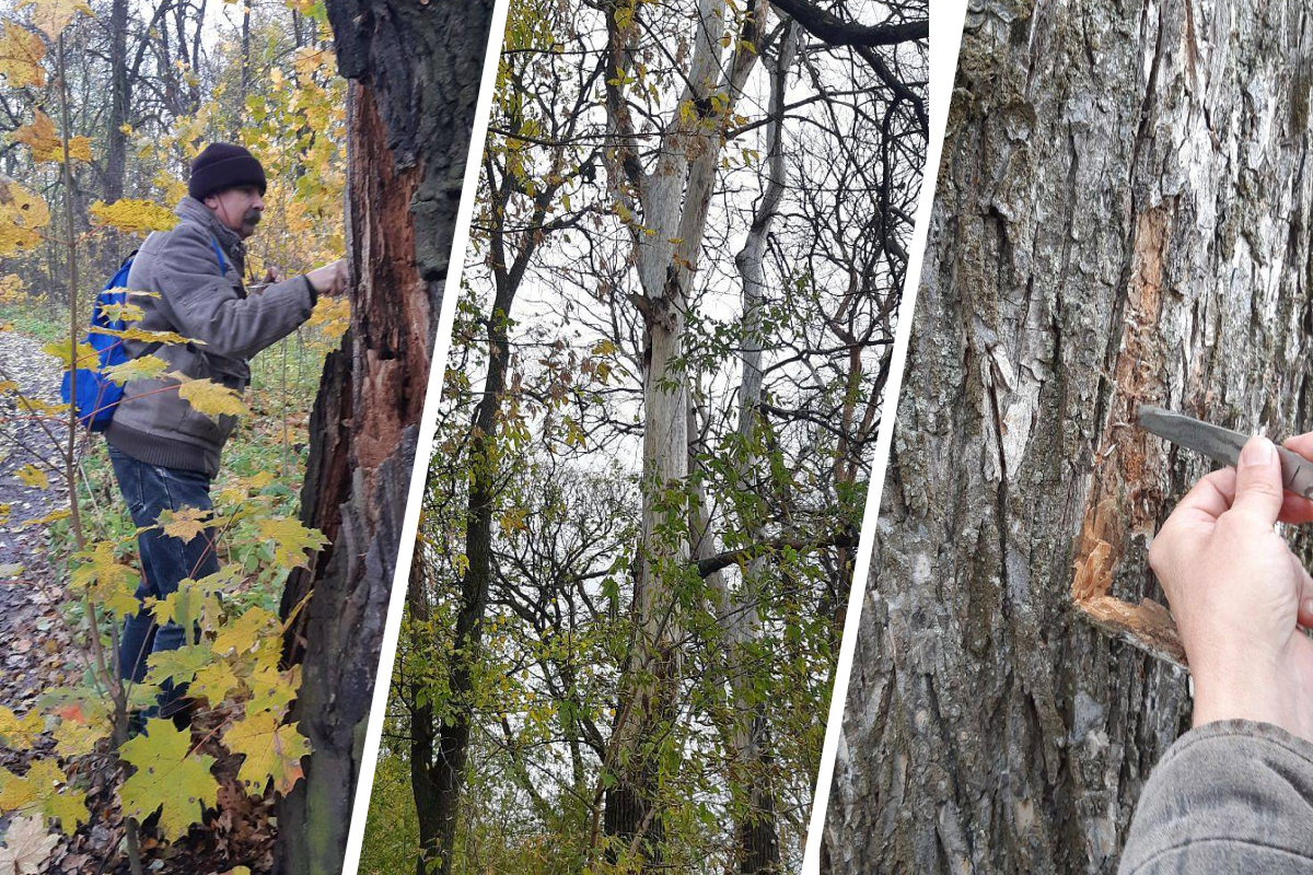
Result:
{"type": "MultiPolygon", "coordinates": [[[[214,237],[210,237],[210,248],[214,249],[214,257],[219,262],[219,275],[222,275],[223,252],[214,237]]],[[[122,319],[122,306],[127,303],[127,290],[125,286],[127,285],[127,272],[131,269],[133,258],[135,257],[135,252],[127,256],[114,275],[110,277],[109,282],[105,283],[105,287],[101,289],[100,295],[96,296],[96,306],[91,311],[91,325],[93,329],[102,328],[122,332],[127,328],[127,323],[122,319]],[[105,310],[109,307],[118,307],[117,312],[119,316],[116,319],[106,316],[105,310]]],[[[72,370],[66,370],[63,386],[59,387],[59,396],[64,404],[74,405],[77,411],[77,421],[83,426],[92,432],[104,432],[114,418],[114,408],[118,407],[118,401],[123,397],[123,387],[109,379],[105,375],[105,369],[122,365],[129,361],[130,356],[123,350],[123,338],[114,335],[91,331],[83,342],[96,350],[96,363],[91,367],[75,369],[77,371],[77,396],[75,399],[70,397],[72,395],[74,374],[72,370]]],[[[161,345],[160,342],[151,344],[146,348],[144,354],[152,354],[161,345]]],[[[81,362],[75,363],[81,365],[81,362]]]]}

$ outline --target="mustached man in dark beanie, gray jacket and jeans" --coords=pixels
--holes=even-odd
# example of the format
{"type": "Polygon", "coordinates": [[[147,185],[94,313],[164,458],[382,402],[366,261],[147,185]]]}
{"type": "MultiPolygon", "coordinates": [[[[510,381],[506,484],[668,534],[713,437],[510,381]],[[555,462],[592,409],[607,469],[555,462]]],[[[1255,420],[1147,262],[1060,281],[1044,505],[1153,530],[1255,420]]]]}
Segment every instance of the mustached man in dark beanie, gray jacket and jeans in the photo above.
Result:
{"type": "MultiPolygon", "coordinates": [[[[188,197],[175,210],[177,226],[146,239],[127,287],[155,293],[133,298],[144,312],[138,328],[200,342],[126,341],[129,356],[154,354],[168,363],[167,371],[240,392],[249,382],[249,359],[256,353],[306,321],[319,295],[343,291],[345,265],[339,260],[247,294],[243,241],[260,223],[264,192],[264,168],[240,146],[211,143],[196,157],[188,197]]],[[[231,416],[211,418],[192,409],[177,386],[167,378],[127,383],[105,430],[114,475],[138,527],[154,526],[164,510],[213,508],[210,483],[236,424],[231,416]]],[[[190,630],[176,623],[158,626],[144,600],[165,598],[183,579],[198,580],[219,568],[211,531],[188,542],[159,530],[143,531],[138,550],[142,582],[137,598],[142,607],[123,623],[119,643],[119,674],[134,682],[146,676],[151,653],[176,649],[192,638],[190,630]]],[[[159,714],[185,722],[181,690],[165,685],[159,714]]],[[[144,716],[152,715],[138,715],[138,723],[144,716]]]]}

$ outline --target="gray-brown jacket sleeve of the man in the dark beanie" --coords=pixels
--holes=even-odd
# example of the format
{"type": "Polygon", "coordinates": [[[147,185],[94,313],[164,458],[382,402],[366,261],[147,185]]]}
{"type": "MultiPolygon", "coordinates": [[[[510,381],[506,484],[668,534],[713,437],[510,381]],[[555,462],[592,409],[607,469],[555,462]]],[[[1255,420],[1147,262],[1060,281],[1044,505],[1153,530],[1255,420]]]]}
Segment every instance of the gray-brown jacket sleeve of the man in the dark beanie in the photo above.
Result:
{"type": "Polygon", "coordinates": [[[219,275],[210,240],[192,222],[179,226],[163,247],[155,279],[179,333],[228,358],[251,358],[276,344],[309,319],[314,307],[305,277],[243,298],[232,281],[219,275]]]}

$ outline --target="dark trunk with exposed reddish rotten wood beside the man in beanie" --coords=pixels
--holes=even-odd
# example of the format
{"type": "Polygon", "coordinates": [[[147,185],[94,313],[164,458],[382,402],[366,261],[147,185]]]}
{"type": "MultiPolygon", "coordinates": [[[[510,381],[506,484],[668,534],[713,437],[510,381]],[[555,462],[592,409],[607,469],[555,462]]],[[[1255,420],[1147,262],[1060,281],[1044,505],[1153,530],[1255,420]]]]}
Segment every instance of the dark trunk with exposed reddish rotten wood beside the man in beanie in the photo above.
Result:
{"type": "Polygon", "coordinates": [[[280,807],[276,868],[337,872],[450,262],[492,4],[330,0],[351,88],[352,325],[311,416],[302,518],[332,546],[289,581],[295,708],[314,746],[280,807]]]}

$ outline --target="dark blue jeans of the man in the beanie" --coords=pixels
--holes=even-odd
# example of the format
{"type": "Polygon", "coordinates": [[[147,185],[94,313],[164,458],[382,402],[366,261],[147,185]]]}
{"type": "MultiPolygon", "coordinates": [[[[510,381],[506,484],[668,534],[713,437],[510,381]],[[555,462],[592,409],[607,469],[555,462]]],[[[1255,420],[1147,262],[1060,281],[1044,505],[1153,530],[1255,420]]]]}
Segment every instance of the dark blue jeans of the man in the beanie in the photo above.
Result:
{"type": "MultiPolygon", "coordinates": [[[[210,479],[200,471],[180,471],[138,462],[113,446],[109,447],[109,460],[138,529],[154,526],[161,510],[214,508],[210,502],[210,479]]],[[[210,529],[186,543],[159,529],[151,529],[137,537],[137,548],[142,560],[142,581],[137,586],[140,609],[135,617],[123,621],[118,644],[119,677],[134,683],[146,677],[146,660],[151,653],[173,651],[197,640],[194,632],[189,640],[186,630],[177,623],[156,623],[155,615],[146,607],[146,600],[167,598],[177,592],[177,585],[184,579],[200,580],[219,571],[214,533],[210,529]]],[[[185,685],[175,687],[171,681],[165,681],[160,690],[160,716],[171,716],[183,710],[185,685]]]]}

